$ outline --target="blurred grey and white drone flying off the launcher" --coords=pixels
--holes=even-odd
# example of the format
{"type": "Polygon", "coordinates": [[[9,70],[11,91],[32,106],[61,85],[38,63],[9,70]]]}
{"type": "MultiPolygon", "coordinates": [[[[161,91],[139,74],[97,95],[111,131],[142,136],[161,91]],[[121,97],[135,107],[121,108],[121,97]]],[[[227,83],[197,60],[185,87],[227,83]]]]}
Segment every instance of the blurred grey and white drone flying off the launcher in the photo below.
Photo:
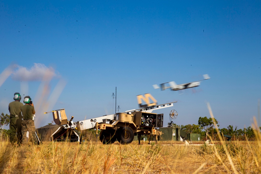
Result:
{"type": "MultiPolygon", "coordinates": [[[[204,77],[203,80],[210,79],[208,74],[204,74],[203,77],[204,77]]],[[[189,83],[183,83],[183,84],[180,84],[180,85],[177,85],[174,81],[172,81],[172,82],[161,83],[160,87],[158,85],[152,85],[152,86],[153,86],[154,89],[161,88],[161,91],[168,89],[168,88],[170,88],[171,91],[178,91],[178,90],[181,90],[181,89],[197,87],[197,86],[200,85],[201,81],[202,80],[189,82],[189,83]]]]}

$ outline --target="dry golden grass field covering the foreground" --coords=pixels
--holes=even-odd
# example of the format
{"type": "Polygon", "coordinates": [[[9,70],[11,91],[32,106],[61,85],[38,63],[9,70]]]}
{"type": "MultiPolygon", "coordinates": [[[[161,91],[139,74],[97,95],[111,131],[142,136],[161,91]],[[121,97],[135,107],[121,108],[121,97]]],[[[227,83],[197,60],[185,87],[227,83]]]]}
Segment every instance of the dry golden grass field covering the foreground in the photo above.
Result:
{"type": "MultiPolygon", "coordinates": [[[[95,141],[48,142],[40,146],[0,144],[1,173],[261,173],[260,132],[253,142],[214,145],[103,145],[95,141]],[[182,145],[182,146],[181,146],[182,145]]],[[[177,144],[174,144],[177,143],[177,144]]]]}

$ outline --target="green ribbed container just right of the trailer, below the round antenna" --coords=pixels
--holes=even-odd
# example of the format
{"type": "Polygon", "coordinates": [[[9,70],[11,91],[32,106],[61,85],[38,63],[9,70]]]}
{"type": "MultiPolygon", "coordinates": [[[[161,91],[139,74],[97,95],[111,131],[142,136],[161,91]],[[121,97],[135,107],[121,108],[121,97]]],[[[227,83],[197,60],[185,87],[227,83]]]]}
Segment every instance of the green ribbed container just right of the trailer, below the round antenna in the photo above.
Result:
{"type": "Polygon", "coordinates": [[[159,128],[163,134],[159,141],[180,141],[180,128],[159,128]]]}

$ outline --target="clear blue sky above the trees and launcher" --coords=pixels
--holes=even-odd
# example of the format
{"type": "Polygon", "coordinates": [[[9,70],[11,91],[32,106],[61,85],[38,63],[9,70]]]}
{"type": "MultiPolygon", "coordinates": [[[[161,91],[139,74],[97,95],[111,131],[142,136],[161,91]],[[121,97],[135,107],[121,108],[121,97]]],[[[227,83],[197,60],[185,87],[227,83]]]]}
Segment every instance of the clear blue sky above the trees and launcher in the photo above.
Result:
{"type": "Polygon", "coordinates": [[[220,128],[243,129],[261,98],[260,21],[260,1],[0,1],[0,112],[20,92],[37,108],[36,127],[61,108],[80,121],[115,113],[117,87],[119,112],[151,93],[177,101],[156,111],[164,125],[172,109],[174,123],[197,124],[209,102],[220,128]],[[203,74],[211,79],[182,95],[152,87],[203,74]]]}

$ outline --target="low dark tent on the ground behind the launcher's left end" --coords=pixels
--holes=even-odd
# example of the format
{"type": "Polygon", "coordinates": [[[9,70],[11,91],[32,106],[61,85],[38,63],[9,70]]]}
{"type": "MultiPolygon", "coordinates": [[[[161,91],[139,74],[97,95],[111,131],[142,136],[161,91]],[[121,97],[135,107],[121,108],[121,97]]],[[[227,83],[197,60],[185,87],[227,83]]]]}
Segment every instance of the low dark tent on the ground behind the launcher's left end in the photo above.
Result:
{"type": "Polygon", "coordinates": [[[64,137],[65,141],[67,136],[70,142],[80,141],[79,135],[73,129],[64,129],[57,124],[37,128],[36,132],[41,141],[61,141],[61,137],[64,137]]]}

